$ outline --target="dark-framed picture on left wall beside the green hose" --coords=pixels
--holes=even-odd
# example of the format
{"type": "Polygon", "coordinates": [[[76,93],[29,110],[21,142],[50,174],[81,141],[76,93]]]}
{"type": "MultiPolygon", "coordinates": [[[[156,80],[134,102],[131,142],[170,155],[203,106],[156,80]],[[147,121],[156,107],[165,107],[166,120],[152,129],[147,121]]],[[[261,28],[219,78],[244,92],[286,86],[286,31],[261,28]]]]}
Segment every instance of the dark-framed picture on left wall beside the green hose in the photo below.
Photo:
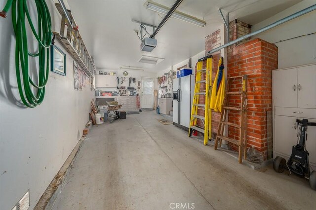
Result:
{"type": "Polygon", "coordinates": [[[66,54],[57,46],[51,46],[51,71],[66,76],[66,54]]]}

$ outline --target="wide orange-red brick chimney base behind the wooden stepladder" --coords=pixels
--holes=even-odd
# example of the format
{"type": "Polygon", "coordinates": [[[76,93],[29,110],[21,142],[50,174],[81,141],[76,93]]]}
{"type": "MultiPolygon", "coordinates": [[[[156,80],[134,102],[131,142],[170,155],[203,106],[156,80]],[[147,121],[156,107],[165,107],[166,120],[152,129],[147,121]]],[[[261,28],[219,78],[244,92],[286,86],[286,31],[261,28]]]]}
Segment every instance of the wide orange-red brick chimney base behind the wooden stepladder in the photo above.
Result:
{"type": "MultiPolygon", "coordinates": [[[[277,69],[277,47],[261,39],[254,39],[232,47],[228,51],[228,77],[248,75],[247,89],[247,144],[267,155],[267,111],[272,110],[271,70],[277,69]]],[[[240,88],[240,81],[231,85],[231,91],[240,88]]],[[[230,106],[239,106],[233,96],[230,106]]],[[[229,122],[239,124],[239,113],[230,112],[229,122]]],[[[228,135],[239,139],[238,129],[229,127],[228,135]]],[[[237,149],[233,146],[233,148],[237,149]]]]}

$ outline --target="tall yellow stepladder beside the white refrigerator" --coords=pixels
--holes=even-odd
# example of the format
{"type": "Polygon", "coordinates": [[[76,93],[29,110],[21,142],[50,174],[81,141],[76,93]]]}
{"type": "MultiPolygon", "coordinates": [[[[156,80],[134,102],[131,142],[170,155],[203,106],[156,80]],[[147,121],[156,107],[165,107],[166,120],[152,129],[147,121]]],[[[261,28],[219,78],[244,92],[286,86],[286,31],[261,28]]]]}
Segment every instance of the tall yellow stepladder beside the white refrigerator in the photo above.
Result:
{"type": "Polygon", "coordinates": [[[196,82],[194,87],[194,96],[192,103],[192,111],[189,125],[189,137],[192,132],[198,131],[204,134],[204,145],[207,145],[211,135],[211,119],[212,114],[209,108],[211,99],[211,83],[212,83],[212,56],[201,58],[197,62],[196,82]],[[206,60],[206,69],[203,68],[203,62],[206,60]],[[205,78],[206,74],[206,78],[205,78]],[[204,84],[204,85],[202,85],[204,84]],[[199,103],[201,95],[205,95],[205,103],[199,103]],[[204,116],[198,115],[198,110],[204,110],[204,116]],[[202,121],[204,127],[197,125],[197,119],[202,121]]]}

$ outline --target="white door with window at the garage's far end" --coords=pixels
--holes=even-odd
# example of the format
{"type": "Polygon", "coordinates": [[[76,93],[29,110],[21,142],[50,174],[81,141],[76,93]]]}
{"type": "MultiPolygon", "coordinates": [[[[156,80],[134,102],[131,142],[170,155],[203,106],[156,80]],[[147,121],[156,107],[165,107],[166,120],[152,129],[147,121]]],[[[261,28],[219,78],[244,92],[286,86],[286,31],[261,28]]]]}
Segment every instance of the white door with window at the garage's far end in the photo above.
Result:
{"type": "Polygon", "coordinates": [[[153,86],[152,78],[142,78],[141,108],[153,108],[153,86]]]}

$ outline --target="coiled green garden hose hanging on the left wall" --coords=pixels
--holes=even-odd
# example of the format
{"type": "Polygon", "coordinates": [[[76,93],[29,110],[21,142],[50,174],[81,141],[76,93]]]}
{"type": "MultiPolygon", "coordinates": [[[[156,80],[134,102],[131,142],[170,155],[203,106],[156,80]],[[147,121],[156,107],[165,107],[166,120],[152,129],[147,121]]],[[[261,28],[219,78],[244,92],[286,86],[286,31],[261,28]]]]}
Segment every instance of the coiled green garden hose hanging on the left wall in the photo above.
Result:
{"type": "MultiPolygon", "coordinates": [[[[27,0],[8,0],[1,12],[2,17],[12,6],[13,30],[16,37],[15,43],[15,70],[19,94],[24,105],[34,108],[40,105],[45,96],[45,86],[49,76],[49,48],[52,42],[51,17],[45,0],[35,0],[37,9],[36,32],[31,20],[27,0]],[[27,30],[25,19],[27,18],[33,35],[38,41],[38,52],[32,54],[28,51],[27,30]],[[29,75],[29,56],[39,58],[38,78],[32,80],[29,75]],[[38,84],[35,84],[38,81],[38,84]],[[33,93],[36,91],[36,94],[33,93]]],[[[35,71],[35,70],[34,70],[35,71]]],[[[32,70],[33,72],[33,70],[32,70]]]]}

